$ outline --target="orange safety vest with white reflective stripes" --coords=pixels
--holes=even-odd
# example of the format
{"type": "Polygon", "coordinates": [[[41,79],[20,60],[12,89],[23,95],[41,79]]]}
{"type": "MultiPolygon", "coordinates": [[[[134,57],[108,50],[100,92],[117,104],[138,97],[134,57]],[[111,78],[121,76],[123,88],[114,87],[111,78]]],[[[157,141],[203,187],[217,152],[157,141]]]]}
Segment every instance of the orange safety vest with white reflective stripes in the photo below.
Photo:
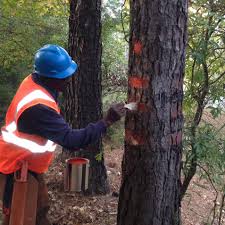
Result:
{"type": "Polygon", "coordinates": [[[48,170],[56,144],[38,135],[19,132],[17,129],[20,115],[37,104],[46,105],[60,113],[50,93],[36,84],[29,75],[14,96],[6,114],[5,126],[1,129],[1,173],[9,174],[17,171],[24,160],[28,162],[28,169],[31,171],[43,173],[48,170]]]}

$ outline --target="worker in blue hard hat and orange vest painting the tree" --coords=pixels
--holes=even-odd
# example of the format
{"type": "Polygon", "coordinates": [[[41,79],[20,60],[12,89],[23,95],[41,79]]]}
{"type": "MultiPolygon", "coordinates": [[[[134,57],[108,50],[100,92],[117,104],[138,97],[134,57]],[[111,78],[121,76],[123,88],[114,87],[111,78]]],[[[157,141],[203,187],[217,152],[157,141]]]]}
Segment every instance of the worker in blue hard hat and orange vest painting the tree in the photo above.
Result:
{"type": "Polygon", "coordinates": [[[114,104],[98,122],[72,129],[60,114],[57,97],[76,71],[77,64],[64,48],[43,46],[35,54],[34,72],[22,81],[8,108],[0,136],[0,175],[6,179],[5,186],[0,187],[4,190],[4,225],[10,218],[13,174],[21,169],[21,162],[28,162],[29,172],[39,182],[36,224],[49,225],[43,173],[48,170],[56,144],[71,150],[83,148],[99,140],[107,127],[125,114],[123,103],[114,104]]]}

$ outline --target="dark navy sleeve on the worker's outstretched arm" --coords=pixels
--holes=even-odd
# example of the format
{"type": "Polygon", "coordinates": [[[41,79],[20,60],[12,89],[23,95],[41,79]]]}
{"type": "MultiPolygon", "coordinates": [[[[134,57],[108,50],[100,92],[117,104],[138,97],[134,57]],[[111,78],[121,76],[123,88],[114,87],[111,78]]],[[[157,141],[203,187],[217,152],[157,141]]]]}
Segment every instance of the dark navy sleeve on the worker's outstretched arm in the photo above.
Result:
{"type": "Polygon", "coordinates": [[[83,129],[72,129],[56,111],[38,104],[21,114],[18,120],[18,130],[39,135],[67,149],[76,149],[99,140],[106,132],[106,126],[100,120],[90,123],[83,129]]]}

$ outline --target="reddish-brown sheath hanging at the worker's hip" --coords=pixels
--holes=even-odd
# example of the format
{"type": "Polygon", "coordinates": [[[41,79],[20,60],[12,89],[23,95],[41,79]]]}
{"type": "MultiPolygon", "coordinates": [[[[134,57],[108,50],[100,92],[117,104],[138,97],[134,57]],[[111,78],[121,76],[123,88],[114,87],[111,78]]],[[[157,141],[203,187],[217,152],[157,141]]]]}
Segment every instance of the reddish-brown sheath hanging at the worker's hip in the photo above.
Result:
{"type": "Polygon", "coordinates": [[[21,169],[14,173],[14,177],[13,174],[1,176],[5,176],[5,179],[1,179],[5,190],[0,194],[3,208],[10,208],[9,225],[35,225],[38,181],[28,172],[28,163],[24,161],[21,169]]]}

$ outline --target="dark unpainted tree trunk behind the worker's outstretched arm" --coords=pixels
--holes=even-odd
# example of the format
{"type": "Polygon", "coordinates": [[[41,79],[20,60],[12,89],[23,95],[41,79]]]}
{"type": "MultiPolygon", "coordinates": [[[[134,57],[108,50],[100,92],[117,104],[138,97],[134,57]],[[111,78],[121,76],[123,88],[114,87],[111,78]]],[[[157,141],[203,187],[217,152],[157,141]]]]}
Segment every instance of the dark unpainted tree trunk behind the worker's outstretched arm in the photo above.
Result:
{"type": "MultiPolygon", "coordinates": [[[[70,1],[69,54],[78,63],[78,72],[67,90],[65,114],[73,128],[83,128],[102,117],[100,13],[100,0],[70,1]]],[[[99,141],[81,152],[90,159],[89,192],[92,194],[109,191],[104,158],[95,159],[101,148],[99,141]]]]}

